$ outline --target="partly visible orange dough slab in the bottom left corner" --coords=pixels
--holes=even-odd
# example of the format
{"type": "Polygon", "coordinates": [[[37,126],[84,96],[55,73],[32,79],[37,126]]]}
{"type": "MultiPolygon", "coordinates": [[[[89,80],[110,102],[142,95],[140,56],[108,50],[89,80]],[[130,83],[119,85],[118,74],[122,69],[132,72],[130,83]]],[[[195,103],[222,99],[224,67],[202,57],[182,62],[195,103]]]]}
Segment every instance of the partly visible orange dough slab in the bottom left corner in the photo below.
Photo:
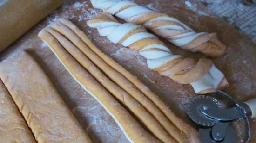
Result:
{"type": "Polygon", "coordinates": [[[37,143],[2,81],[0,81],[0,143],[37,143]]]}

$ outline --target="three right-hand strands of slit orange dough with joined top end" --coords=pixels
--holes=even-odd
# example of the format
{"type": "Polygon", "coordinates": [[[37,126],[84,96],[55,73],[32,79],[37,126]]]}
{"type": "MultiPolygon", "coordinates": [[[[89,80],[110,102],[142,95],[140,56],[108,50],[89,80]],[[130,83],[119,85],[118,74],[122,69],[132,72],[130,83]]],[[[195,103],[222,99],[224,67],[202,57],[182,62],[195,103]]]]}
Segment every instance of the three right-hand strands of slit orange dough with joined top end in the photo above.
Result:
{"type": "MultiPolygon", "coordinates": [[[[163,143],[199,143],[195,129],[177,118],[135,76],[98,50],[73,23],[59,19],[41,31],[39,36],[45,40],[47,32],[163,143]]],[[[45,41],[49,44],[49,40],[45,41]]]]}

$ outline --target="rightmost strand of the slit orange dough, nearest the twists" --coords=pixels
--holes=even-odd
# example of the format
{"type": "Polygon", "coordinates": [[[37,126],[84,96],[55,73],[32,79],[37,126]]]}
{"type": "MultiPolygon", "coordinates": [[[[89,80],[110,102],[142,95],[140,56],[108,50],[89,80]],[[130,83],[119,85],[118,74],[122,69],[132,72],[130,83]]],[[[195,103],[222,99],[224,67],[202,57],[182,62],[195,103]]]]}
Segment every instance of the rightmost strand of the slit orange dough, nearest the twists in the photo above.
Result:
{"type": "MultiPolygon", "coordinates": [[[[145,86],[140,80],[138,80],[134,75],[132,75],[128,70],[123,68],[120,64],[115,62],[113,59],[111,59],[108,55],[104,54],[101,50],[99,50],[91,40],[86,36],[86,34],[81,31],[76,25],[74,25],[72,22],[70,22],[67,19],[59,19],[61,23],[65,24],[68,28],[70,28],[74,33],[81,38],[81,40],[86,44],[86,45],[81,45],[82,47],[78,46],[78,48],[96,64],[101,68],[102,71],[110,71],[112,75],[115,75],[115,77],[121,77],[119,74],[121,74],[125,78],[121,78],[121,80],[118,81],[118,84],[121,85],[124,89],[128,87],[128,91],[133,92],[136,90],[133,85],[135,85],[136,88],[138,88],[144,95],[148,97],[159,109],[168,117],[168,119],[175,124],[175,126],[180,129],[181,131],[185,132],[185,134],[188,136],[187,138],[190,139],[190,143],[199,143],[199,137],[197,131],[190,127],[188,124],[186,124],[182,119],[178,118],[172,110],[165,105],[165,103],[157,96],[155,93],[153,93],[150,89],[148,89],[147,86],[145,86]],[[88,48],[90,49],[87,49],[88,48]],[[92,50],[92,52],[89,52],[92,50]],[[88,54],[87,54],[88,53],[88,54]],[[93,56],[93,58],[90,57],[93,56]],[[99,58],[96,58],[99,57],[99,58]],[[97,60],[99,59],[99,60],[97,60]],[[102,60],[101,60],[102,59],[102,60]],[[104,63],[107,64],[104,64],[104,63]],[[102,65],[102,66],[100,66],[102,65]],[[107,68],[110,66],[110,68],[107,68]],[[112,70],[113,68],[114,70],[112,70]],[[116,75],[115,71],[118,72],[118,75],[116,75]],[[130,81],[125,82],[126,80],[130,81]]],[[[74,35],[73,35],[74,37],[74,35]]],[[[72,40],[71,40],[72,41],[72,40]]],[[[80,43],[80,42],[75,42],[80,43]]],[[[80,44],[78,44],[80,45],[80,44]]],[[[117,78],[114,78],[114,80],[117,78]]],[[[112,79],[113,80],[113,79],[112,79]]],[[[113,80],[113,81],[114,81],[113,80]]],[[[128,92],[127,91],[127,92],[128,92]]]]}

